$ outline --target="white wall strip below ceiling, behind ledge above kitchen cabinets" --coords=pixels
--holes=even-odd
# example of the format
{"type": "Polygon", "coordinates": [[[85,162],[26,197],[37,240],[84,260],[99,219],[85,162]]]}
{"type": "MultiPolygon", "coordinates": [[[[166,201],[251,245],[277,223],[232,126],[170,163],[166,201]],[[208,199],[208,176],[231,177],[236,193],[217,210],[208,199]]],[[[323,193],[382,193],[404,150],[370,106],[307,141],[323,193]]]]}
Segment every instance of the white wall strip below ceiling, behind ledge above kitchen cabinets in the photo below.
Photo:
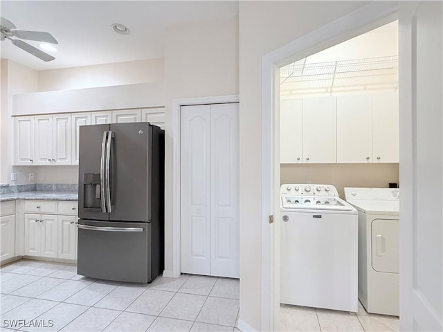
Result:
{"type": "Polygon", "coordinates": [[[158,82],[163,80],[164,72],[163,59],[44,70],[38,72],[38,89],[54,91],[158,82]]]}

